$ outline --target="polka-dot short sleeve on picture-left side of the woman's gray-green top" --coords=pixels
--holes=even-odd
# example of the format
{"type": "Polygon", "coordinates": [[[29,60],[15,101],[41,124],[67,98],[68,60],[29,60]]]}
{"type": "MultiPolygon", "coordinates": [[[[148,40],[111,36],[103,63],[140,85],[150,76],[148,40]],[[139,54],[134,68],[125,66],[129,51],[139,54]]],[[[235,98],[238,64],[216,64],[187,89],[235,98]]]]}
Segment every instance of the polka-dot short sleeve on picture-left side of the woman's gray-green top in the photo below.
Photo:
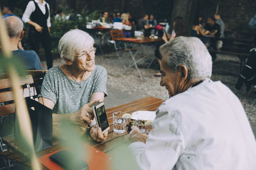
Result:
{"type": "MultiPolygon", "coordinates": [[[[47,99],[50,99],[53,101],[55,104],[57,102],[57,95],[56,95],[56,88],[54,86],[54,73],[52,73],[51,70],[49,70],[44,77],[44,81],[42,83],[41,87],[41,94],[38,95],[38,97],[45,97],[47,99]]],[[[58,84],[58,83],[56,83],[58,84]]]]}

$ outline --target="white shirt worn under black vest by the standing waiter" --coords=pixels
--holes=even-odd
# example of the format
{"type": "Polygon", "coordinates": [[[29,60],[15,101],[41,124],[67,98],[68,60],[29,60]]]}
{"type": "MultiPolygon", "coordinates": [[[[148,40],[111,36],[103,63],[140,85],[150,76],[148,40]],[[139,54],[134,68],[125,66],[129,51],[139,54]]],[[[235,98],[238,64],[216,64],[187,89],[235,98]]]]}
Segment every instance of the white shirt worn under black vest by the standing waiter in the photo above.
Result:
{"type": "MultiPolygon", "coordinates": [[[[47,27],[51,27],[51,19],[50,19],[50,15],[51,15],[51,11],[50,11],[50,6],[48,3],[46,3],[45,1],[43,2],[43,4],[41,4],[38,0],[35,0],[35,2],[38,4],[38,7],[40,8],[40,10],[42,11],[42,13],[45,14],[46,10],[45,10],[45,4],[47,4],[47,8],[49,11],[49,17],[47,18],[47,27]]],[[[33,11],[36,10],[36,6],[35,3],[33,1],[29,1],[26,10],[24,11],[24,14],[22,16],[22,20],[27,23],[29,22],[29,18],[31,13],[33,13],[33,11]]]]}

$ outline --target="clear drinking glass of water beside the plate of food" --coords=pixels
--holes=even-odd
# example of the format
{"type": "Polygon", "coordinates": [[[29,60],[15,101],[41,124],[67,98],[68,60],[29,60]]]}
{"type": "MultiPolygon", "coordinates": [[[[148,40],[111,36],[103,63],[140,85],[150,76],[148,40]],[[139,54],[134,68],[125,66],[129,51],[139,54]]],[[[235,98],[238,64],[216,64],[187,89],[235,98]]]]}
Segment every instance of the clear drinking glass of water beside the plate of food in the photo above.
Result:
{"type": "Polygon", "coordinates": [[[127,118],[122,117],[124,114],[122,111],[113,113],[113,131],[117,134],[125,132],[127,118]]]}

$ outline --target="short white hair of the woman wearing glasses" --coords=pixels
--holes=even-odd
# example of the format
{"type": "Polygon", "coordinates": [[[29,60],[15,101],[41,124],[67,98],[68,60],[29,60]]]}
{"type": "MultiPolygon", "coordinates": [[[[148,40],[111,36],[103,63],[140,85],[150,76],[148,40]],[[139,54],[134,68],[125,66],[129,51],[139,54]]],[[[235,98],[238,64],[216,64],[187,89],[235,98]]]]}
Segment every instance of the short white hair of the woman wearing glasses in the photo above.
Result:
{"type": "Polygon", "coordinates": [[[94,40],[87,32],[72,29],[61,37],[58,50],[61,58],[73,62],[76,55],[79,55],[83,50],[89,50],[93,44],[94,40]]]}

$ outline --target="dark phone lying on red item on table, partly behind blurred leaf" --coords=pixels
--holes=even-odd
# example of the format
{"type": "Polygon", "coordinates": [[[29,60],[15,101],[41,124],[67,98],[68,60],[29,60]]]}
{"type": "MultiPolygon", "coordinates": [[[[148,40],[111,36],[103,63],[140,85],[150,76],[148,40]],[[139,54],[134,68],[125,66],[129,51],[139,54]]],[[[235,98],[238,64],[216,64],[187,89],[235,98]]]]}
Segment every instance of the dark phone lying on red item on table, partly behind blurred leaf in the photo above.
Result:
{"type": "Polygon", "coordinates": [[[50,159],[67,170],[88,170],[88,163],[83,159],[75,159],[68,150],[61,150],[50,156],[50,159]]]}

